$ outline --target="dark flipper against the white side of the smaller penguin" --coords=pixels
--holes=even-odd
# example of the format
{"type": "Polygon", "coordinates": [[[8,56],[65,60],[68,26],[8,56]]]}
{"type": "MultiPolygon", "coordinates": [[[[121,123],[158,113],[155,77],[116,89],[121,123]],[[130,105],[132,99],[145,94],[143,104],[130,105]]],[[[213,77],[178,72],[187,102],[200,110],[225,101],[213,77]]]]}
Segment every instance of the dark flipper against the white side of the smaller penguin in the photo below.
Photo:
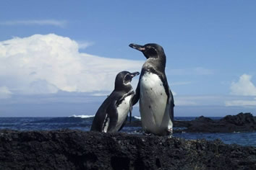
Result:
{"type": "Polygon", "coordinates": [[[110,117],[109,125],[108,125],[108,132],[115,132],[116,123],[118,120],[118,112],[116,109],[116,102],[117,102],[116,100],[111,102],[111,104],[109,105],[109,107],[107,109],[107,114],[110,117]]]}

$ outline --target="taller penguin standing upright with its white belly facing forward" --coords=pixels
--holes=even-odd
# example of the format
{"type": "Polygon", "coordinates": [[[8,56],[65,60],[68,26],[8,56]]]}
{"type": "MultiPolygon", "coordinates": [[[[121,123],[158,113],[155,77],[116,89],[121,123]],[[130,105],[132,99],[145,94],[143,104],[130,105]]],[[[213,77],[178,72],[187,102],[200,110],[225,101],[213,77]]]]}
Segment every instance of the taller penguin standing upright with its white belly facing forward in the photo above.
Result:
{"type": "Polygon", "coordinates": [[[140,115],[145,133],[171,135],[174,120],[174,97],[166,79],[166,55],[158,44],[129,47],[140,50],[147,58],[132,104],[140,99],[140,115]]]}

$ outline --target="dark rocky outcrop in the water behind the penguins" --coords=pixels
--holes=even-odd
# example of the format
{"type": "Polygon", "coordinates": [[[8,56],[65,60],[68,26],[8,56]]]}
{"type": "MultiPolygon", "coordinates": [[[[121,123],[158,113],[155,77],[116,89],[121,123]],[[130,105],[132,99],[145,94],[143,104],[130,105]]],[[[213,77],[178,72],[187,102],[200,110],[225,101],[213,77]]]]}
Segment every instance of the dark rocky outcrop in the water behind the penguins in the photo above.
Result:
{"type": "Polygon", "coordinates": [[[174,127],[185,127],[182,131],[189,133],[234,133],[252,132],[256,130],[255,117],[251,113],[228,115],[221,120],[208,117],[197,117],[192,121],[175,121],[174,127]]]}

